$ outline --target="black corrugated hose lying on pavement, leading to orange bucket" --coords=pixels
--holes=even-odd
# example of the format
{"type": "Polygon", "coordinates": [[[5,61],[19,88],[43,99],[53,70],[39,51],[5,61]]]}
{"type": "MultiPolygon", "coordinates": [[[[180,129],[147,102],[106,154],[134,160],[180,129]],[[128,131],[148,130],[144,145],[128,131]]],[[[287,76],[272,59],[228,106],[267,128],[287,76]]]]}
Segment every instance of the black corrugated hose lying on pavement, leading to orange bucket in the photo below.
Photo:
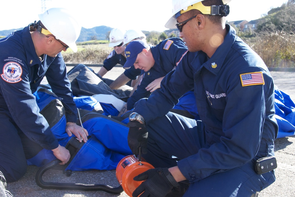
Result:
{"type": "Polygon", "coordinates": [[[53,168],[55,165],[60,163],[61,161],[56,159],[51,161],[50,163],[42,166],[36,173],[36,183],[39,187],[45,189],[70,189],[70,190],[83,190],[83,191],[105,191],[107,193],[119,194],[124,190],[122,186],[119,187],[111,187],[108,185],[101,184],[82,184],[82,183],[54,183],[54,182],[44,182],[42,180],[42,175],[53,168]]]}

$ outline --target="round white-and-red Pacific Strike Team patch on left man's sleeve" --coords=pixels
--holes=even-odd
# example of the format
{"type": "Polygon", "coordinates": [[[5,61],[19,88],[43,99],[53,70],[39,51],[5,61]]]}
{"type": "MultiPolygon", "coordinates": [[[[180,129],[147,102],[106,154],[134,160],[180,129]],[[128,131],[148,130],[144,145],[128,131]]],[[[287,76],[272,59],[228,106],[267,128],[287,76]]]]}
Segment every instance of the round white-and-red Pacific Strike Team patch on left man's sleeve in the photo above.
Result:
{"type": "Polygon", "coordinates": [[[7,62],[3,67],[1,78],[8,83],[17,83],[22,80],[22,67],[16,62],[7,62]]]}

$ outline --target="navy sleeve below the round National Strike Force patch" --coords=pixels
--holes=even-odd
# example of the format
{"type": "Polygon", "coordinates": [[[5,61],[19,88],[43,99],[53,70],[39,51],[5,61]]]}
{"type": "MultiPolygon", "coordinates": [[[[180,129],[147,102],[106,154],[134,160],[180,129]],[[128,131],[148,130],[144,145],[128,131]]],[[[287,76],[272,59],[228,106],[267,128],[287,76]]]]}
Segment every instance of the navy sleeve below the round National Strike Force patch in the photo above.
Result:
{"type": "Polygon", "coordinates": [[[28,67],[28,65],[22,66],[22,80],[19,82],[9,83],[0,79],[1,94],[13,120],[24,134],[43,148],[52,150],[58,147],[58,141],[46,119],[39,113],[35,96],[30,89],[28,67]]]}

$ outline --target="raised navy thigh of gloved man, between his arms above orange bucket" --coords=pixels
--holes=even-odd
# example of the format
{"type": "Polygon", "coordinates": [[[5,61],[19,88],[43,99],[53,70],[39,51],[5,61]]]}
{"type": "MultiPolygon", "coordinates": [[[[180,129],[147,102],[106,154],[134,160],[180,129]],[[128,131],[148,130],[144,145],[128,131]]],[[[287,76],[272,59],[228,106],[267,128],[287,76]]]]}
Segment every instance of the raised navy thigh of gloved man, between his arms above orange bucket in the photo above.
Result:
{"type": "Polygon", "coordinates": [[[201,121],[168,112],[147,128],[148,153],[142,157],[155,168],[176,166],[177,160],[197,153],[204,146],[201,121]]]}

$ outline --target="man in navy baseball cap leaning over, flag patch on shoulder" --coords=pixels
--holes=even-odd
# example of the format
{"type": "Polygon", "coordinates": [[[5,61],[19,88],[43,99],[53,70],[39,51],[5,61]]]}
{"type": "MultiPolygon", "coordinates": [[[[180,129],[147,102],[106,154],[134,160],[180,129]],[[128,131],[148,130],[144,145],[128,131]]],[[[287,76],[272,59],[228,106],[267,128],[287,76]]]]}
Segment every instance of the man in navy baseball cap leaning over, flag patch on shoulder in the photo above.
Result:
{"type": "Polygon", "coordinates": [[[157,46],[149,46],[141,40],[135,40],[125,49],[127,62],[123,67],[131,67],[144,71],[137,89],[127,100],[127,110],[131,110],[138,100],[148,97],[151,92],[146,87],[156,79],[163,79],[168,72],[176,69],[178,62],[187,51],[180,38],[169,38],[157,46]],[[130,53],[130,54],[129,54],[130,53]]]}

